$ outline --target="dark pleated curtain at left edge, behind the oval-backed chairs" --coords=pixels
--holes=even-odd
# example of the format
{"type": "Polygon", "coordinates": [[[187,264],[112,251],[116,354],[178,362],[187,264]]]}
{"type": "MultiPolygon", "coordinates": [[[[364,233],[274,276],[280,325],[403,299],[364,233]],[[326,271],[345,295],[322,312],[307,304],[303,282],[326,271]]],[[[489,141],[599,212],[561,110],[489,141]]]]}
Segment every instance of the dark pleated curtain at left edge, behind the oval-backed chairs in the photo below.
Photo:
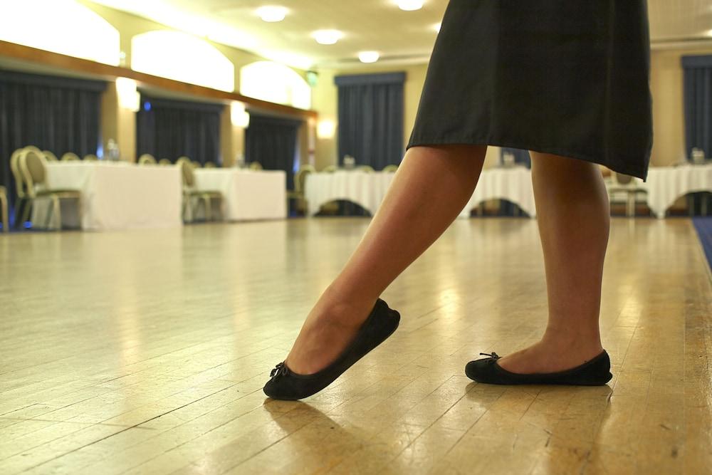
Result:
{"type": "Polygon", "coordinates": [[[106,83],[0,70],[0,184],[14,202],[14,150],[35,145],[61,156],[97,154],[106,83]]]}

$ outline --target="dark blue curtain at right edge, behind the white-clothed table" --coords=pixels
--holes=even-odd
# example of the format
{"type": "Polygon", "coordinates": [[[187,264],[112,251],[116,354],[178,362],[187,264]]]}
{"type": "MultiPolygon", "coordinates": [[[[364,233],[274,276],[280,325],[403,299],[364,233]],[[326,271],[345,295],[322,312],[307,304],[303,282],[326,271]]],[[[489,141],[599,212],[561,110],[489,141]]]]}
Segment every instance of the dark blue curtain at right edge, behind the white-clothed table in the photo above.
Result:
{"type": "MultiPolygon", "coordinates": [[[[712,55],[683,56],[685,155],[691,160],[693,147],[712,156],[712,55]]],[[[693,193],[687,199],[690,214],[701,214],[703,200],[712,209],[709,193],[693,193]]]]}

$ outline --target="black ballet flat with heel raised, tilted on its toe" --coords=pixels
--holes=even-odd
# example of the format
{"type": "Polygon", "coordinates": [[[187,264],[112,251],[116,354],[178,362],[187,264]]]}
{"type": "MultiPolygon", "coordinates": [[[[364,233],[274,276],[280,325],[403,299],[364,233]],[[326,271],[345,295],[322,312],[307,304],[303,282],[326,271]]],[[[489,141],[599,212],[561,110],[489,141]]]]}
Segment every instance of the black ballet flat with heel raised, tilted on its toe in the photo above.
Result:
{"type": "Polygon", "coordinates": [[[298,400],[315,395],[383,343],[398,328],[399,321],[400,314],[379,298],[352,343],[333,363],[311,375],[299,375],[281,362],[270,372],[265,394],[278,400],[298,400]]]}

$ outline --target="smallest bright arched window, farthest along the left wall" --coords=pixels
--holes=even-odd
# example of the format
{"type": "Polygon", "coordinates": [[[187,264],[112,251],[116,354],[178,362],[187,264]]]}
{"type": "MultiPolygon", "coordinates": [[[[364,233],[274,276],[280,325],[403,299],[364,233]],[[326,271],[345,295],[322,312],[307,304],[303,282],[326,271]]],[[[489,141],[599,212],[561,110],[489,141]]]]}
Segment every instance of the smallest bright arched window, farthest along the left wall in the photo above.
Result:
{"type": "Polygon", "coordinates": [[[271,103],[311,108],[309,84],[293,69],[272,61],[244,66],[240,70],[240,93],[271,103]]]}

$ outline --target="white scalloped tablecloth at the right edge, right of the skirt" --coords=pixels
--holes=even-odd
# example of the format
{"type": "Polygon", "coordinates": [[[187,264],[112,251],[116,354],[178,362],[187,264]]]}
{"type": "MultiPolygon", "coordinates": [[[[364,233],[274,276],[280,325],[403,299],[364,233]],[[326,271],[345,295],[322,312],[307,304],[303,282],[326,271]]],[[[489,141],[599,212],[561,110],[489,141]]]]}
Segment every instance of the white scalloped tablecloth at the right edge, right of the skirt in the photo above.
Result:
{"type": "Polygon", "coordinates": [[[651,167],[647,182],[639,185],[648,192],[648,207],[658,218],[666,210],[693,192],[712,192],[712,165],[681,165],[679,167],[651,167]]]}

